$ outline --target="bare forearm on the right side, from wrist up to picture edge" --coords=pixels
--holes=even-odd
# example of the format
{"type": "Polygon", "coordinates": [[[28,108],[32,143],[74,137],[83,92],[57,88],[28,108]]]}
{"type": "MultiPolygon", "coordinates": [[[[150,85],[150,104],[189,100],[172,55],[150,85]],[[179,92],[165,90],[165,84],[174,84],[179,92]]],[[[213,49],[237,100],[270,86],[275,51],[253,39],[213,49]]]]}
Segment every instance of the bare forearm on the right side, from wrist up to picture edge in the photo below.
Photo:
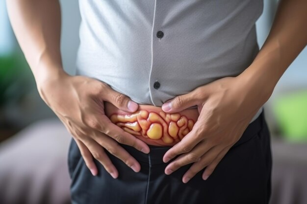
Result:
{"type": "Polygon", "coordinates": [[[268,38],[251,66],[238,76],[246,89],[264,100],[262,103],[307,45],[306,11],[306,0],[281,0],[268,38]]]}

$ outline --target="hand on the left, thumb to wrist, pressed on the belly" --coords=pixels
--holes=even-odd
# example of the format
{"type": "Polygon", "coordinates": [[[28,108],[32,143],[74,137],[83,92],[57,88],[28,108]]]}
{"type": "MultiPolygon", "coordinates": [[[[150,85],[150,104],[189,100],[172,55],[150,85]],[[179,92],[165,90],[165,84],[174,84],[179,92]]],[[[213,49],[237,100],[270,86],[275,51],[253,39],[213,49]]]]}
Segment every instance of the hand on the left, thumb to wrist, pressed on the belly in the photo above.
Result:
{"type": "Polygon", "coordinates": [[[118,142],[133,146],[146,154],[150,151],[148,145],[112,123],[104,114],[103,101],[130,113],[137,110],[137,103],[102,81],[85,76],[71,76],[66,72],[45,80],[37,88],[42,99],[75,139],[86,166],[94,176],[98,169],[93,157],[114,179],[118,177],[118,171],[104,149],[135,172],[140,170],[139,162],[118,142]],[[128,109],[129,101],[135,103],[132,110],[128,109]]]}

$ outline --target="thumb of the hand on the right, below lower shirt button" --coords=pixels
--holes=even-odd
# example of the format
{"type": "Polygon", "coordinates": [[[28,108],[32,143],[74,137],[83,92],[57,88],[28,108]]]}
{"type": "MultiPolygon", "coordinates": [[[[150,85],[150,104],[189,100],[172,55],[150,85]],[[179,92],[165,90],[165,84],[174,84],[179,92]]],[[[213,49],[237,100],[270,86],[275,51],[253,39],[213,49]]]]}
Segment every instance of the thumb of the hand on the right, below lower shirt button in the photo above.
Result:
{"type": "Polygon", "coordinates": [[[192,91],[166,101],[161,108],[166,113],[176,113],[194,105],[197,105],[197,98],[192,91]]]}

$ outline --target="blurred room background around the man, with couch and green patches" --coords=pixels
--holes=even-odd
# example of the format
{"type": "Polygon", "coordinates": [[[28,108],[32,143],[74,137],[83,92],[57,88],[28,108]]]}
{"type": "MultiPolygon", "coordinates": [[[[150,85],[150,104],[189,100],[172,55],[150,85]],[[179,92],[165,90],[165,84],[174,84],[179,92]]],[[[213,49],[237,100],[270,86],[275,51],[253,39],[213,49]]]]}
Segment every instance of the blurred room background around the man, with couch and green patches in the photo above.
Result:
{"type": "MultiPolygon", "coordinates": [[[[74,75],[78,1],[60,2],[63,64],[74,75]]],[[[260,47],[277,4],[264,0],[256,23],[260,47]]],[[[285,71],[264,110],[272,138],[271,204],[307,204],[307,48],[285,71]]],[[[0,0],[0,204],[69,204],[70,138],[40,98],[0,0]]]]}

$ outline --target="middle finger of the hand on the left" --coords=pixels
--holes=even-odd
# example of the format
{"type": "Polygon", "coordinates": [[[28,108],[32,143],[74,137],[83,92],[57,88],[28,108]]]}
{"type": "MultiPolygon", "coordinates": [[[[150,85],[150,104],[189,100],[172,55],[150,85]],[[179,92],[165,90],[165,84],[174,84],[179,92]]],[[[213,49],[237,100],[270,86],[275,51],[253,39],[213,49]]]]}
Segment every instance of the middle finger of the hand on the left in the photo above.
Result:
{"type": "Polygon", "coordinates": [[[94,134],[94,139],[104,147],[110,154],[114,155],[118,159],[121,159],[126,165],[128,165],[133,171],[139,172],[141,169],[140,163],[133,158],[125,148],[120,146],[115,140],[103,133],[94,134]]]}

